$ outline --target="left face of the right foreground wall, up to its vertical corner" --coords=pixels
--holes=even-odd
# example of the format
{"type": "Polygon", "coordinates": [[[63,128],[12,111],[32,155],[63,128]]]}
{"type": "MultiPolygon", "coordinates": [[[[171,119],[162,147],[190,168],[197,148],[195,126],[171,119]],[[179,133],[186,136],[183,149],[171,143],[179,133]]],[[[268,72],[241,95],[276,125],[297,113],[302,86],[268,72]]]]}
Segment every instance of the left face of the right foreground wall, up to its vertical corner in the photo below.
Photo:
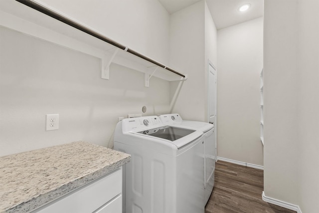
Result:
{"type": "Polygon", "coordinates": [[[298,78],[296,0],[265,1],[264,191],[297,204],[298,78]]]}

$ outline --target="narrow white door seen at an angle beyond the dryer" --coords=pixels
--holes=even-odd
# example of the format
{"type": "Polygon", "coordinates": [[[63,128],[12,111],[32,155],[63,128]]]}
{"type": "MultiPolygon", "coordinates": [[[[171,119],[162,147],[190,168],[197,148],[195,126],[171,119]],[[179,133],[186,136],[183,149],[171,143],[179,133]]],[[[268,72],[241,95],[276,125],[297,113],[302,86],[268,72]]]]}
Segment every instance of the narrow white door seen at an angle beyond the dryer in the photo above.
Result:
{"type": "Polygon", "coordinates": [[[217,160],[217,70],[216,67],[208,61],[208,122],[214,124],[214,144],[215,144],[215,160],[217,160]]]}

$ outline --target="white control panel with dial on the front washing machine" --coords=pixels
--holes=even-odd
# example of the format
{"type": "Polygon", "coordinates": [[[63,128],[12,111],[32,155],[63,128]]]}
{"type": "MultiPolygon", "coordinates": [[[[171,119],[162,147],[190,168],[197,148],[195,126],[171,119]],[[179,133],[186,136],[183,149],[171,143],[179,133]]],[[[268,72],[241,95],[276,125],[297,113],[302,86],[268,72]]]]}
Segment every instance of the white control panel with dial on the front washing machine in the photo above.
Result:
{"type": "Polygon", "coordinates": [[[162,125],[158,116],[126,118],[122,120],[123,132],[140,131],[162,125]]]}

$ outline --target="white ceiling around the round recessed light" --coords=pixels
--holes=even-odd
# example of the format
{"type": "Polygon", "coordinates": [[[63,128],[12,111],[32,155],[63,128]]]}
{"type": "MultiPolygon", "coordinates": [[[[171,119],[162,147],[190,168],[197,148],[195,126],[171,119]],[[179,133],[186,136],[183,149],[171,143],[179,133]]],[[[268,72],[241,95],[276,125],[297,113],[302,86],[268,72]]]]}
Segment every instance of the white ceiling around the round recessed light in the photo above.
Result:
{"type": "MultiPolygon", "coordinates": [[[[200,0],[159,0],[171,14],[200,0]]],[[[217,29],[245,22],[263,16],[264,0],[206,0],[217,29]],[[250,3],[245,12],[239,12],[238,7],[250,3]]]]}

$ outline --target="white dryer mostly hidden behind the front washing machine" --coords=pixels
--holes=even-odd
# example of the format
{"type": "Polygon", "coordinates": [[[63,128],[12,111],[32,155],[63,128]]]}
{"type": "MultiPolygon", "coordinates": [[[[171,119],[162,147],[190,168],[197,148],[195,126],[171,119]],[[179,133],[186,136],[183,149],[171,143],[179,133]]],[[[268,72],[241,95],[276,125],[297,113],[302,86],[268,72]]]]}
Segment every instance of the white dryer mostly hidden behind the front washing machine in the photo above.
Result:
{"type": "Polygon", "coordinates": [[[205,122],[199,121],[185,121],[177,113],[175,114],[166,114],[160,115],[160,120],[164,125],[174,125],[179,127],[186,128],[195,128],[203,132],[204,134],[204,189],[205,204],[209,200],[209,197],[214,188],[214,175],[215,175],[215,161],[216,161],[216,152],[215,152],[215,129],[214,125],[205,122]]]}

